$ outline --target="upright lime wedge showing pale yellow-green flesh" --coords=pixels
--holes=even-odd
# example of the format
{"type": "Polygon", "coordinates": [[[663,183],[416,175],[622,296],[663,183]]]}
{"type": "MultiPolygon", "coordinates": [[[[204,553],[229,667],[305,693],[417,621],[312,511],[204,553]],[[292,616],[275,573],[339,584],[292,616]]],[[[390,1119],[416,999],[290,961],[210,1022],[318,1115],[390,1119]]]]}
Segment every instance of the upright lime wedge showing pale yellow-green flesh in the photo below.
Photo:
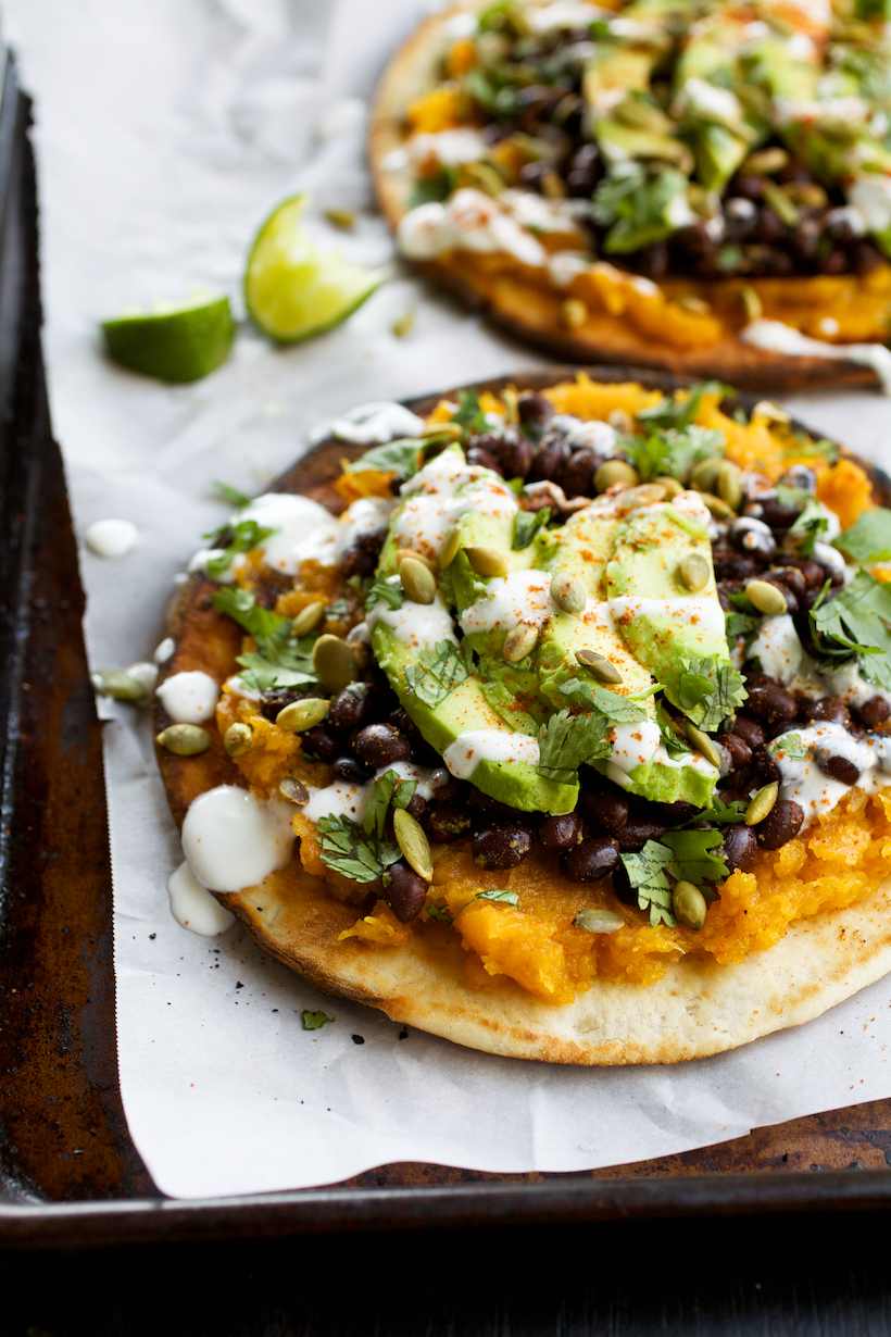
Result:
{"type": "Polygon", "coordinates": [[[317,250],[301,226],[303,205],[303,195],[277,205],[254,238],[244,270],[248,316],[279,344],[339,325],[383,282],[382,270],[317,250]]]}

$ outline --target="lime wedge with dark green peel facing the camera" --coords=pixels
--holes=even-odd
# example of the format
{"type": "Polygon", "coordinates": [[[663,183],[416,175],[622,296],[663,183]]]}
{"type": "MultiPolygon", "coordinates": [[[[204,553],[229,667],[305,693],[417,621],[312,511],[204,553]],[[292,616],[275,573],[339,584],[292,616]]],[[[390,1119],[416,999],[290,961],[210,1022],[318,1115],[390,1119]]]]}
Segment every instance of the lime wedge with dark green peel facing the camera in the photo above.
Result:
{"type": "Polygon", "coordinates": [[[228,357],[235,321],[228,297],[202,297],[102,322],[108,356],[159,381],[198,381],[228,357]]]}

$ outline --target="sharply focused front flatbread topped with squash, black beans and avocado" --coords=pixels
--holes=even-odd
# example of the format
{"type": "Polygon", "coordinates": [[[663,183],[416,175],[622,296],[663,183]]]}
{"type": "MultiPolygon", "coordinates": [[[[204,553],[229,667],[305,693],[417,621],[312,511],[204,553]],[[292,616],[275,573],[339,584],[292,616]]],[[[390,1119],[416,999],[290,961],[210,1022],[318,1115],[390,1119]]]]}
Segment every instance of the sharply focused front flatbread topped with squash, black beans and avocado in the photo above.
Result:
{"type": "Polygon", "coordinates": [[[672,1063],[818,1016],[891,969],[887,499],[649,373],[346,414],[172,607],[180,889],[496,1054],[672,1063]]]}

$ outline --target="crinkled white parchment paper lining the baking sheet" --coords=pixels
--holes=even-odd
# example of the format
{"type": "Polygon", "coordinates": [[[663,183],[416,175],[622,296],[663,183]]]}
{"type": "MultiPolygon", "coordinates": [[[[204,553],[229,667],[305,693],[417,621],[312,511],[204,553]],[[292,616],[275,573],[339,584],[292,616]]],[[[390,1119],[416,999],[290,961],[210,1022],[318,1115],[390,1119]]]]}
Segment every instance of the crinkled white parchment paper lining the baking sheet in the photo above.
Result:
{"type": "MultiPolygon", "coordinates": [[[[259,219],[295,189],[363,210],[330,241],[391,255],[362,164],[363,108],[415,0],[7,0],[36,96],[45,348],[79,533],[139,525],[139,547],[83,552],[95,667],[150,656],[198,535],[222,519],[211,480],[263,487],[310,427],[350,404],[537,365],[397,277],[345,328],[287,352],[242,333],[232,360],[167,389],[110,368],[102,316],[196,287],[238,294],[259,219]],[[413,334],[390,324],[417,312],[413,334]]],[[[325,230],[323,223],[318,223],[325,230]]],[[[793,402],[815,427],[891,456],[888,400],[793,402]]],[[[106,707],[115,876],[118,1046],[131,1132],[174,1195],[323,1183],[389,1161],[581,1170],[680,1151],[891,1092],[891,987],[801,1031],[677,1068],[512,1063],[322,999],[234,929],[180,929],[179,862],[147,721],[106,707]],[[303,1032],[301,1009],[335,1021],[303,1032]],[[359,1043],[362,1040],[363,1043],[359,1043]]]]}

